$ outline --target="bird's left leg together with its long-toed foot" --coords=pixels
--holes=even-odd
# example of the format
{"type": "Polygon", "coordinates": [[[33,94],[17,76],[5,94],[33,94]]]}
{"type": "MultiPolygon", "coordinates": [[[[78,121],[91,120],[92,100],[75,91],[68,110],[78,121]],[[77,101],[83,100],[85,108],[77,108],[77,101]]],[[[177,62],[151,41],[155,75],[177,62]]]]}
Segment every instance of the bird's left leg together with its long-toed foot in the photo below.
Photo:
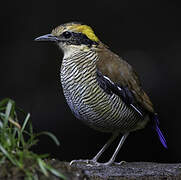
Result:
{"type": "Polygon", "coordinates": [[[102,155],[102,153],[111,145],[111,143],[116,139],[116,137],[119,135],[119,132],[115,132],[113,133],[113,135],[111,136],[111,138],[106,142],[106,144],[101,148],[101,150],[96,154],[96,156],[92,159],[92,160],[72,160],[70,162],[70,165],[76,163],[76,162],[82,162],[82,163],[86,163],[86,164],[93,164],[93,165],[99,165],[102,163],[98,163],[97,160],[99,159],[99,157],[102,155]]]}

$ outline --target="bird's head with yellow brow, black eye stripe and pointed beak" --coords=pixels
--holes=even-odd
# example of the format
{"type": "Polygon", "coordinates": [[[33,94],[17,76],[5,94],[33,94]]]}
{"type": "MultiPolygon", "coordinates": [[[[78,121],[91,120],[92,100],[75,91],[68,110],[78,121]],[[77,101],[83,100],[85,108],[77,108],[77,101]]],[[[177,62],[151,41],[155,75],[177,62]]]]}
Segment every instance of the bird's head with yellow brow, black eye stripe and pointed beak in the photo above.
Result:
{"type": "Polygon", "coordinates": [[[66,23],[46,34],[35,39],[36,41],[53,41],[65,53],[72,50],[90,50],[99,45],[99,39],[92,28],[81,23],[66,23]]]}

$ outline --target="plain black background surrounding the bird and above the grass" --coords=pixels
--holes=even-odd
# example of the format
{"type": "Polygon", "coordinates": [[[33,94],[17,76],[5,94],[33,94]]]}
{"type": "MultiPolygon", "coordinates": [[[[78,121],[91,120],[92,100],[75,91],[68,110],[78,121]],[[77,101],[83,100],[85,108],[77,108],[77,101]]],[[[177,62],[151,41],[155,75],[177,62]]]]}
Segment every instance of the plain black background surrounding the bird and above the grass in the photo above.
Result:
{"type": "MultiPolygon", "coordinates": [[[[181,8],[159,1],[11,1],[1,4],[0,99],[10,97],[31,113],[35,131],[51,131],[56,147],[42,137],[37,152],[60,160],[92,158],[110,134],[89,129],[71,114],[62,93],[63,54],[33,39],[62,23],[81,21],[133,65],[159,113],[165,150],[152,128],[128,137],[117,161],[179,162],[181,152],[181,8]]],[[[118,143],[118,141],[116,142],[118,143]]],[[[107,160],[113,144],[102,160],[107,160]]]]}

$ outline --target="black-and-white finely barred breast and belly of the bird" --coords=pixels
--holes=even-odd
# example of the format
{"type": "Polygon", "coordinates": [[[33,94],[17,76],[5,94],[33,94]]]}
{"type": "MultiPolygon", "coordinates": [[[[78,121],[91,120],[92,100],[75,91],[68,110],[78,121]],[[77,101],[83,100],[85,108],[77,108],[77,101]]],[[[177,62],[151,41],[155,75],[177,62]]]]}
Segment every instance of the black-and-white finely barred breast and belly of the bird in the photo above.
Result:
{"type": "Polygon", "coordinates": [[[90,127],[103,131],[132,131],[143,121],[120,97],[107,94],[98,84],[97,54],[79,52],[64,58],[61,66],[63,92],[73,114],[90,127]]]}

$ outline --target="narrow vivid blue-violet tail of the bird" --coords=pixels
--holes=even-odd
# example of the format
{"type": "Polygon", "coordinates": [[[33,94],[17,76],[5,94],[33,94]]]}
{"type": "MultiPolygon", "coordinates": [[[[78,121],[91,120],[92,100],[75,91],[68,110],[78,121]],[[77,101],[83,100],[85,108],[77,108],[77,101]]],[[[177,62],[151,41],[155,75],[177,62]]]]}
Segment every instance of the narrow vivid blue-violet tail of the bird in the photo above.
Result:
{"type": "Polygon", "coordinates": [[[162,143],[162,145],[167,149],[167,142],[163,136],[163,133],[161,132],[160,128],[159,128],[159,120],[158,120],[158,116],[157,114],[153,115],[153,120],[154,120],[154,129],[156,130],[158,137],[162,143]]]}

